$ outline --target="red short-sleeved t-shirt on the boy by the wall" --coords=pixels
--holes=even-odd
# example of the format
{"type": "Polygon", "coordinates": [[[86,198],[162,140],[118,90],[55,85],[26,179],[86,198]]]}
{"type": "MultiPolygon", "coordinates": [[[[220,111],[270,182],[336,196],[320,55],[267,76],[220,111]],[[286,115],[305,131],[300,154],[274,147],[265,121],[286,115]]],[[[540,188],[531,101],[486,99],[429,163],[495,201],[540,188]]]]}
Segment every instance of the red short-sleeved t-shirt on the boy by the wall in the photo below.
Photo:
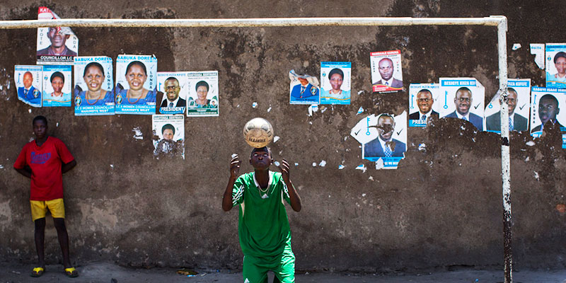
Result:
{"type": "Polygon", "coordinates": [[[63,198],[61,166],[73,160],[63,141],[48,136],[41,146],[37,146],[35,140],[25,144],[13,168],[30,166],[30,200],[55,200],[63,198]]]}

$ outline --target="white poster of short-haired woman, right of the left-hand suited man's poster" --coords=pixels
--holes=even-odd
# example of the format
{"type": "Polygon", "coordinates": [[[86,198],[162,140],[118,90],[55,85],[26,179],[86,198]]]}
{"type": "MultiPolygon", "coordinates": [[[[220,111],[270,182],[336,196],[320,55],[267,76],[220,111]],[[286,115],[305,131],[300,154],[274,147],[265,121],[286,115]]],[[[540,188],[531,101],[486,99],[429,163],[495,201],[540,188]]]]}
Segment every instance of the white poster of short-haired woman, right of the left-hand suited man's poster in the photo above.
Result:
{"type": "Polygon", "coordinates": [[[187,117],[219,115],[218,71],[187,72],[187,88],[187,117]]]}

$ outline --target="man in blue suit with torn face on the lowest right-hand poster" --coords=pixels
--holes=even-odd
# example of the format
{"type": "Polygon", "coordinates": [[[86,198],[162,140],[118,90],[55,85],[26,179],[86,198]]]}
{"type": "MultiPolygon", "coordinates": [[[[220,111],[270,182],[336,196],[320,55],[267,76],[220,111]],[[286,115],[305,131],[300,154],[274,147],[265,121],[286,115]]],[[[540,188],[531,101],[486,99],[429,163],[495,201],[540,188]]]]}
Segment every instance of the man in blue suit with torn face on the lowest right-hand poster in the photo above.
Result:
{"type": "Polygon", "coordinates": [[[393,139],[395,119],[393,116],[382,114],[377,119],[378,137],[364,144],[366,157],[403,157],[407,146],[403,141],[393,139]]]}

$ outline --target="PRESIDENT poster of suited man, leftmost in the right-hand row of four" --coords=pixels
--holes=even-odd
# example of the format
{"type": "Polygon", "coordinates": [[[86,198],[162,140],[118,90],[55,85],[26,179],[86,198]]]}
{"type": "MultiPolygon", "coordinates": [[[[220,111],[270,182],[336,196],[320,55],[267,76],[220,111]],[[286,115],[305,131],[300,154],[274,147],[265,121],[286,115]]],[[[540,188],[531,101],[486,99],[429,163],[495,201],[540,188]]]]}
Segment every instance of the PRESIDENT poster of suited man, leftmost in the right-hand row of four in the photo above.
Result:
{"type": "Polygon", "coordinates": [[[430,117],[439,117],[439,93],[438,83],[409,85],[409,127],[426,127],[430,117]]]}

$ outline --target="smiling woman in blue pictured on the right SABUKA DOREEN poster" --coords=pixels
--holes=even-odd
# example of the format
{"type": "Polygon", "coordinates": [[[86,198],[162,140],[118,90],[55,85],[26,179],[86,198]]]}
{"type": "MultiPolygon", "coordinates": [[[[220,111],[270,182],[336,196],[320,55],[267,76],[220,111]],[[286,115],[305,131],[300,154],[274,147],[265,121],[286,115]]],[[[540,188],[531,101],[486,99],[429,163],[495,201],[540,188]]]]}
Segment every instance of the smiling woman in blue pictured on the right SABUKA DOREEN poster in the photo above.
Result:
{"type": "MultiPolygon", "coordinates": [[[[144,88],[147,80],[146,65],[139,61],[132,61],[126,68],[126,81],[129,89],[120,89],[116,99],[121,99],[117,103],[146,105],[156,102],[156,92],[144,88]]],[[[120,87],[120,86],[118,86],[120,87]]]]}

